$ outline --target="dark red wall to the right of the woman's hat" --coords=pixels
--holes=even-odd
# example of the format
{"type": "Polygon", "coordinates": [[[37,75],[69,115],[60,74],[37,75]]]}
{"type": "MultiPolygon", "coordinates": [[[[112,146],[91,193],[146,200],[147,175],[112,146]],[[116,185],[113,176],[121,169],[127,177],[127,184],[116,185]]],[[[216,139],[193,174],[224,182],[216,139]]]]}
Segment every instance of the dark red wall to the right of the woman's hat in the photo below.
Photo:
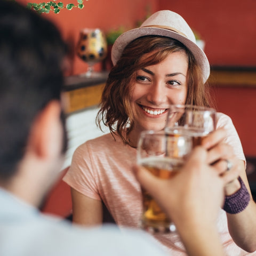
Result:
{"type": "Polygon", "coordinates": [[[255,0],[160,0],[178,12],[205,40],[211,65],[256,66],[255,0]]]}

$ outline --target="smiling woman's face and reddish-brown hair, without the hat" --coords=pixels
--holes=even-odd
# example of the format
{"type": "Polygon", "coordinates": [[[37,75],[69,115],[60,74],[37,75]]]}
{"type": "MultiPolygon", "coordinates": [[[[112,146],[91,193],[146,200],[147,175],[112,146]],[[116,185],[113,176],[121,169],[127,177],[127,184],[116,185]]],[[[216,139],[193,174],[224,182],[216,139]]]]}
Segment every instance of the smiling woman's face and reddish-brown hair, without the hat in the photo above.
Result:
{"type": "MultiPolygon", "coordinates": [[[[115,45],[112,56],[118,48],[115,45]]],[[[137,121],[146,116],[136,106],[149,111],[166,109],[171,103],[209,106],[206,92],[202,71],[187,47],[170,37],[142,36],[124,48],[121,59],[111,70],[102,93],[98,123],[101,125],[103,121],[112,134],[118,134],[124,143],[135,147],[139,132],[156,129],[150,123],[162,130],[166,121],[166,112],[157,119],[147,116],[148,125],[140,127],[137,121]],[[142,94],[145,94],[143,99],[142,94]],[[134,97],[138,100],[135,105],[134,97]]]]}

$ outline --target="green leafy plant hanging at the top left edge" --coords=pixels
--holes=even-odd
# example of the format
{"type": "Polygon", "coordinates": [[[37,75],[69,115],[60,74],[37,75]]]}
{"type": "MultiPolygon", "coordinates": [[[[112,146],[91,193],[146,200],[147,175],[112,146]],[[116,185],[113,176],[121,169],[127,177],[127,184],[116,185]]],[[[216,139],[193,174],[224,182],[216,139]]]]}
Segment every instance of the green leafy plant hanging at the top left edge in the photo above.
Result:
{"type": "MultiPolygon", "coordinates": [[[[84,7],[84,0],[77,0],[77,5],[75,4],[67,4],[64,5],[62,2],[56,2],[57,0],[49,1],[49,2],[43,2],[43,3],[28,3],[27,7],[29,9],[35,10],[39,13],[49,13],[50,11],[53,11],[54,13],[59,13],[62,9],[68,9],[72,10],[74,7],[78,7],[79,9],[83,9],[84,7]]],[[[86,0],[88,1],[88,0],[86,0]]]]}

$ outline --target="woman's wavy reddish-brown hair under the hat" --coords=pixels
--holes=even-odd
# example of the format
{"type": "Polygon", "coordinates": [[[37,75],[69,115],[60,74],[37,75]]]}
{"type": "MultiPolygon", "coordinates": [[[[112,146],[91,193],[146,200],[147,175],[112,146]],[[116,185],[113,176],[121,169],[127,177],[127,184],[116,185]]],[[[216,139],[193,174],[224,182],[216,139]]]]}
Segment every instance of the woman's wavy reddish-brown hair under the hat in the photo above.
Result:
{"type": "Polygon", "coordinates": [[[130,145],[128,135],[133,129],[131,113],[131,91],[136,79],[136,71],[156,65],[171,52],[185,52],[188,58],[188,94],[187,104],[210,106],[207,84],[203,83],[201,68],[193,54],[179,41],[163,36],[143,36],[129,43],[121,58],[111,69],[105,89],[102,93],[101,108],[97,123],[109,127],[111,134],[117,134],[124,143],[130,145]],[[141,58],[151,53],[149,57],[141,58]]]}

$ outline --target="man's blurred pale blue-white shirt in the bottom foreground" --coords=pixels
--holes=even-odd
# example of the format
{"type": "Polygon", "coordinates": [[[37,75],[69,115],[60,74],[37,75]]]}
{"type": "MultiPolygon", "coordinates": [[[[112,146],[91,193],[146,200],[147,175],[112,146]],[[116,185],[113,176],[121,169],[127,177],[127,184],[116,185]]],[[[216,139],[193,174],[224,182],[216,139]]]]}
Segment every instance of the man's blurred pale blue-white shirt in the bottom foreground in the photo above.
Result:
{"type": "Polygon", "coordinates": [[[143,231],[79,228],[46,217],[0,188],[1,256],[166,255],[143,231]]]}

